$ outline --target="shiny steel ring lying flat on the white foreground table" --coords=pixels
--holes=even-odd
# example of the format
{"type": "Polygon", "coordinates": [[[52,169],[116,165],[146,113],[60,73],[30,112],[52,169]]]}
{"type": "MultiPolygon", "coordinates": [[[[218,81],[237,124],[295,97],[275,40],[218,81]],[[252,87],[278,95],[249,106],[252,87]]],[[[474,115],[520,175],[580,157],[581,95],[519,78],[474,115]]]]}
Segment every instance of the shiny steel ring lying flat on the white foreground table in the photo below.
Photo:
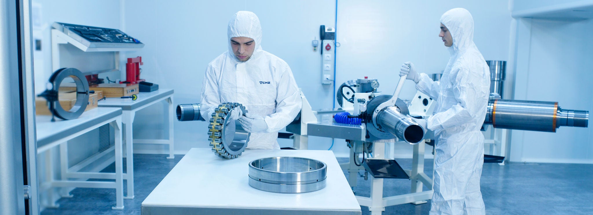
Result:
{"type": "Polygon", "coordinates": [[[249,185],[258,190],[301,193],[326,187],[327,165],[310,158],[270,157],[249,162],[249,185]]]}

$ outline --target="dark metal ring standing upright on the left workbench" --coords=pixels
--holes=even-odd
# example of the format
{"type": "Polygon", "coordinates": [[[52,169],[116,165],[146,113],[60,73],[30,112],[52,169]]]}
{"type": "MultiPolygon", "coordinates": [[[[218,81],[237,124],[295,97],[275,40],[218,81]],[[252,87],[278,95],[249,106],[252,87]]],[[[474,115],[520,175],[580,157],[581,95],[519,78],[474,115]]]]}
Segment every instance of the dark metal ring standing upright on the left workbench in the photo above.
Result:
{"type": "MultiPolygon", "coordinates": [[[[88,104],[88,83],[87,78],[82,75],[82,72],[74,68],[62,68],[56,70],[49,78],[49,84],[46,91],[39,94],[40,97],[44,97],[47,100],[47,107],[53,115],[62,120],[72,120],[78,118],[82,112],[87,108],[88,104]],[[58,101],[58,91],[60,84],[65,78],[72,78],[76,84],[76,103],[70,110],[64,110],[60,102],[58,101]]],[[[52,118],[52,121],[55,121],[52,118]]]]}

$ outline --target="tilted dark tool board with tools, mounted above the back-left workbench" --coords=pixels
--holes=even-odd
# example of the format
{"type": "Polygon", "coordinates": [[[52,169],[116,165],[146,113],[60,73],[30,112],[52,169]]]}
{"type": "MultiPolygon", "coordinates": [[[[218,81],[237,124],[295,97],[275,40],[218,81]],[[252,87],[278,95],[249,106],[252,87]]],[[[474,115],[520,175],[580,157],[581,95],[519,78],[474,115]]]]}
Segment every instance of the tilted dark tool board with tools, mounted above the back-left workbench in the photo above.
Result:
{"type": "Polygon", "coordinates": [[[144,44],[136,38],[113,28],[101,28],[66,23],[53,23],[53,28],[80,41],[87,47],[129,47],[141,48],[144,44]]]}

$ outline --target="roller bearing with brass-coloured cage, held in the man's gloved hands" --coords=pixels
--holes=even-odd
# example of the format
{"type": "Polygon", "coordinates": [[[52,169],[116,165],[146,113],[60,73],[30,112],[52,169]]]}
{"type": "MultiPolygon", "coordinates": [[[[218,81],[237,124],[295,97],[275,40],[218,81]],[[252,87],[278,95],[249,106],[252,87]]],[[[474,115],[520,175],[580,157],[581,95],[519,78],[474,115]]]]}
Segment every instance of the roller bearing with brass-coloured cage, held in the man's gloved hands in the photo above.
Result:
{"type": "Polygon", "coordinates": [[[230,120],[228,114],[232,108],[241,108],[243,113],[247,111],[242,104],[225,102],[218,105],[218,108],[212,113],[210,124],[208,125],[208,141],[212,146],[212,152],[222,158],[233,159],[243,153],[247,142],[249,142],[250,133],[237,128],[235,120],[230,120]]]}

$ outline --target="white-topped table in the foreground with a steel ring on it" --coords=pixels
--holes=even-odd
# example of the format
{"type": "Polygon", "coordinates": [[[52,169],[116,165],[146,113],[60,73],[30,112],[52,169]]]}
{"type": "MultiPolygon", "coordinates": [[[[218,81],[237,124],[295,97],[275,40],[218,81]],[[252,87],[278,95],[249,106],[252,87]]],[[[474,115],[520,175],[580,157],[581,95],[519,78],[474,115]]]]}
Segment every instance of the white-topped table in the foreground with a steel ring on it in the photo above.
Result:
{"type": "Polygon", "coordinates": [[[193,148],[142,202],[141,214],[361,214],[333,152],[249,150],[236,159],[193,148]],[[327,164],[326,187],[301,194],[266,192],[248,184],[248,163],[271,156],[299,156],[327,164]]]}

